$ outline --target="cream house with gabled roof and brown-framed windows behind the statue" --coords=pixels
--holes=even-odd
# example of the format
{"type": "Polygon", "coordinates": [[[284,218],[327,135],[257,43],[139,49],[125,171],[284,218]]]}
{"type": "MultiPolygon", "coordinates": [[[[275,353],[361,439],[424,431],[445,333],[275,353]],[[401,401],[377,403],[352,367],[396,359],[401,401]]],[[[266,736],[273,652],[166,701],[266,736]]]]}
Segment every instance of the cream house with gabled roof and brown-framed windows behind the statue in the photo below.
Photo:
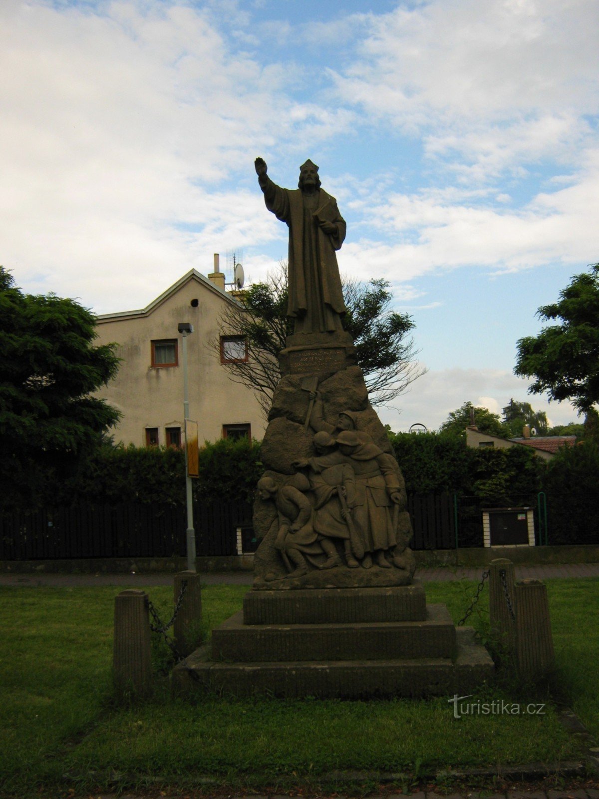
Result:
{"type": "MultiPolygon", "coordinates": [[[[215,264],[217,260],[215,257],[215,264]]],[[[117,377],[99,396],[121,411],[115,441],[138,447],[180,446],[183,424],[182,336],[177,327],[192,324],[187,336],[189,418],[198,423],[200,442],[248,436],[261,439],[265,420],[249,388],[233,383],[224,360],[247,357],[243,340],[220,339],[220,358],[209,348],[218,340],[217,320],[224,304],[224,275],[208,278],[195,269],[139,311],[97,316],[98,344],[117,342],[122,359],[117,377]]]]}

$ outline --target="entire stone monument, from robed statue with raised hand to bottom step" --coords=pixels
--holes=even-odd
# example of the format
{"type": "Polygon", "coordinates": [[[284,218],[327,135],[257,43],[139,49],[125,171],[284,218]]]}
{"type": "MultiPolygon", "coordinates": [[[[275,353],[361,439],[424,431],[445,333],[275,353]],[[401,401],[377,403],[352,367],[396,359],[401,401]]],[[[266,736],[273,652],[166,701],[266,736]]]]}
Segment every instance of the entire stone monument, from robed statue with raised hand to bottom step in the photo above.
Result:
{"type": "Polygon", "coordinates": [[[463,693],[493,663],[413,579],[405,483],[343,330],[335,252],[345,221],[312,161],[298,189],[276,185],[262,158],[255,166],[266,207],[289,229],[294,332],[262,443],[252,590],[173,670],[173,685],[287,697],[463,693]]]}

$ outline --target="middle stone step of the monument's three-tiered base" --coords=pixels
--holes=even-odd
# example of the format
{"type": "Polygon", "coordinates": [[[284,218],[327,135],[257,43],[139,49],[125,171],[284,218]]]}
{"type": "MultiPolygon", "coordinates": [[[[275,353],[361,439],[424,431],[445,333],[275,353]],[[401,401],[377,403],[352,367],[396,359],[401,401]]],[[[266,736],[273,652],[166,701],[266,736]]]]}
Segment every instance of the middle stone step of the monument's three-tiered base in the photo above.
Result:
{"type": "Polygon", "coordinates": [[[244,625],[240,611],[212,630],[212,660],[343,661],[454,658],[455,627],[444,605],[422,622],[244,625]]]}

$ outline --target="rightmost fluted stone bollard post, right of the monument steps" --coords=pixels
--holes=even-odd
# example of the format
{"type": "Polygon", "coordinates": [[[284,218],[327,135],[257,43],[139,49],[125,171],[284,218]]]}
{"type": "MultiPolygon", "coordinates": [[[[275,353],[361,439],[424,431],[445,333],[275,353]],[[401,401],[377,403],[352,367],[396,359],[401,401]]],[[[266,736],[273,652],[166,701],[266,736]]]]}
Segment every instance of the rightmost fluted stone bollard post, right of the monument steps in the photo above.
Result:
{"type": "Polygon", "coordinates": [[[518,671],[521,677],[530,680],[553,666],[547,586],[541,580],[521,580],[516,585],[516,602],[518,671]]]}

